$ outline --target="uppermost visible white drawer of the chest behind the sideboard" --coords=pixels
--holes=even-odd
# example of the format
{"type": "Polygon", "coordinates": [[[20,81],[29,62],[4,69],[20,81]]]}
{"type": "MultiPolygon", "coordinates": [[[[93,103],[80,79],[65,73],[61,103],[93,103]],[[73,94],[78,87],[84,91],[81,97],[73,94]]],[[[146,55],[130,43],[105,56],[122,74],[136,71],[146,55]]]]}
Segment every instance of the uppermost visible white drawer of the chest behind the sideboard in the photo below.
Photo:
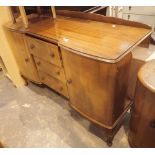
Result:
{"type": "Polygon", "coordinates": [[[123,13],[155,15],[155,6],[124,6],[123,13]]]}

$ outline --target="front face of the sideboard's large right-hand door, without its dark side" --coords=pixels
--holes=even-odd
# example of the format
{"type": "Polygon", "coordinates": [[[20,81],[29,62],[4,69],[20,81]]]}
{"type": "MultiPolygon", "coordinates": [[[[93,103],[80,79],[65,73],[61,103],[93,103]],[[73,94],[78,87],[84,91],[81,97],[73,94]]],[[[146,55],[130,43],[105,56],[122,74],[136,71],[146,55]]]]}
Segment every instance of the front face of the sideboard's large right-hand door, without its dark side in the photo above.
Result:
{"type": "Polygon", "coordinates": [[[110,128],[115,90],[115,66],[62,49],[70,103],[88,119],[110,128]]]}

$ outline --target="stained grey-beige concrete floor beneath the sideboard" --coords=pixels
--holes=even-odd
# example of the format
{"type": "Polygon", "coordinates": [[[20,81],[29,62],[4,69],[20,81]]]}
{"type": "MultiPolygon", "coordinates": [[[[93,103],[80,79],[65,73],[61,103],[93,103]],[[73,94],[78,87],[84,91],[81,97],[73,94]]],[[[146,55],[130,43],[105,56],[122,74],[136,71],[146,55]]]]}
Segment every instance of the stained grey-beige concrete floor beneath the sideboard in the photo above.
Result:
{"type": "MultiPolygon", "coordinates": [[[[68,101],[33,83],[15,88],[0,72],[0,142],[5,147],[108,147],[102,128],[83,118],[68,101]]],[[[129,114],[112,147],[129,147],[129,114]]]]}

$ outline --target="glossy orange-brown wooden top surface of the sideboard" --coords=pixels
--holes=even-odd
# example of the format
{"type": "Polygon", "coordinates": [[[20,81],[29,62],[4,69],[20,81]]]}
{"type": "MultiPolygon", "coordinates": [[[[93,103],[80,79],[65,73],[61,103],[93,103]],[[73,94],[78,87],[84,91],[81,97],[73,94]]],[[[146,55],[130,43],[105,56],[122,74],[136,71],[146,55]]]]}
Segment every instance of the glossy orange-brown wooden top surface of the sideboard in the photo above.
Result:
{"type": "Polygon", "coordinates": [[[60,46],[82,55],[113,61],[144,40],[151,30],[57,16],[55,20],[43,19],[30,23],[25,33],[55,40],[60,46]]]}

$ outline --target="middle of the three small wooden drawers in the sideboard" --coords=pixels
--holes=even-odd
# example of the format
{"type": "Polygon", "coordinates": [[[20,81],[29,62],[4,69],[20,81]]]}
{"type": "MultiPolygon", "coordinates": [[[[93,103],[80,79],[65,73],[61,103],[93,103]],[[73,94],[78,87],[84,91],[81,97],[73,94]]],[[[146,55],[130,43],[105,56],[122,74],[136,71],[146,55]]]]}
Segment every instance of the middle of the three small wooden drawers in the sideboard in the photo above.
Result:
{"type": "Polygon", "coordinates": [[[34,57],[34,60],[35,60],[38,71],[43,71],[49,74],[50,76],[53,76],[54,78],[66,83],[65,73],[64,73],[63,68],[57,67],[38,57],[34,57]]]}

